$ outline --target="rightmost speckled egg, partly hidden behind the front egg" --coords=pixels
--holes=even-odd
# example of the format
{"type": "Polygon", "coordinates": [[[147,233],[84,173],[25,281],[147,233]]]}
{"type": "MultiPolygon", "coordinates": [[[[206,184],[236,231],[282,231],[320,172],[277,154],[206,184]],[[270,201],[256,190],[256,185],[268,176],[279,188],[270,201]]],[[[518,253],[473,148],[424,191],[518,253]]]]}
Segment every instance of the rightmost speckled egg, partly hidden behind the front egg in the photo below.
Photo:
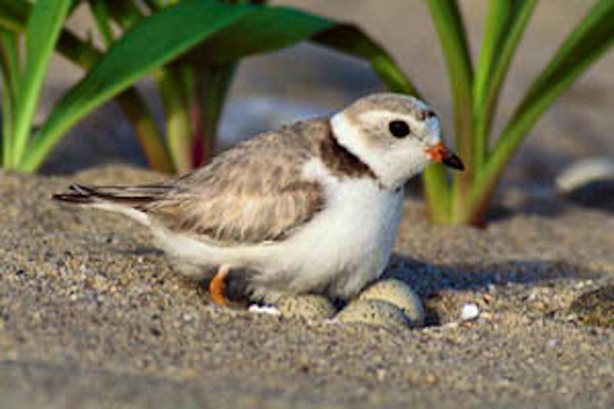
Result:
{"type": "Polygon", "coordinates": [[[405,282],[397,279],[376,281],[363,290],[359,300],[383,300],[397,306],[410,319],[411,327],[424,325],[422,300],[405,282]]]}

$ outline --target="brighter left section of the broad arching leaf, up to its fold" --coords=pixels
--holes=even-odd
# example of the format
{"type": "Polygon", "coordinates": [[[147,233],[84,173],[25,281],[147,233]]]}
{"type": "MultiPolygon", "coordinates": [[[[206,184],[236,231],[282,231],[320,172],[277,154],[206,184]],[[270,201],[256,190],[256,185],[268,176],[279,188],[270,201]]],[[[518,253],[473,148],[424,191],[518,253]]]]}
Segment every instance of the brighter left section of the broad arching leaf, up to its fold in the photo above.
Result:
{"type": "Polygon", "coordinates": [[[62,134],[100,104],[251,12],[251,8],[228,7],[213,0],[185,0],[141,21],[56,104],[23,169],[36,169],[62,134]]]}

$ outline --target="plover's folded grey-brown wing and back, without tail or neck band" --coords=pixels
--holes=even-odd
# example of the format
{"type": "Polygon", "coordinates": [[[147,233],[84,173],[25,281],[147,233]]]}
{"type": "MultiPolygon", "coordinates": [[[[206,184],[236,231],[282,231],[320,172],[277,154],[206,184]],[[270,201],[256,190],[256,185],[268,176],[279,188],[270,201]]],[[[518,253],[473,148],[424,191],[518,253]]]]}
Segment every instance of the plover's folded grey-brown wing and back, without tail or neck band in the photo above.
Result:
{"type": "Polygon", "coordinates": [[[263,134],[176,179],[144,211],[176,232],[220,243],[281,240],[324,208],[325,192],[301,177],[329,137],[325,121],[263,134]]]}

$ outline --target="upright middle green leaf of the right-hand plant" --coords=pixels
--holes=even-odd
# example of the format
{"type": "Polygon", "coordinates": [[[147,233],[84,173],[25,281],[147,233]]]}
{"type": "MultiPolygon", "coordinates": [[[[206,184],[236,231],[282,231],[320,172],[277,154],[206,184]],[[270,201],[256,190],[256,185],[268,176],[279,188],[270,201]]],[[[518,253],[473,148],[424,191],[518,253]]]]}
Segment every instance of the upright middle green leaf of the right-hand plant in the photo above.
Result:
{"type": "Polygon", "coordinates": [[[503,80],[537,0],[490,1],[473,84],[475,168],[486,160],[489,133],[503,80]]]}

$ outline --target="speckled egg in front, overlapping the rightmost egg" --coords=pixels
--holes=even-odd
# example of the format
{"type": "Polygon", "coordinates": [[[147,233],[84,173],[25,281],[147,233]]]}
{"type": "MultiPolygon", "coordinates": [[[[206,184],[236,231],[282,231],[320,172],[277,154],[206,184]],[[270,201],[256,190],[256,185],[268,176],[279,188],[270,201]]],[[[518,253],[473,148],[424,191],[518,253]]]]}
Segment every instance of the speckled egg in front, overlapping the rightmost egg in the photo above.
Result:
{"type": "Polygon", "coordinates": [[[354,300],[335,317],[346,324],[368,324],[379,327],[409,327],[410,321],[397,306],[383,300],[354,300]]]}

